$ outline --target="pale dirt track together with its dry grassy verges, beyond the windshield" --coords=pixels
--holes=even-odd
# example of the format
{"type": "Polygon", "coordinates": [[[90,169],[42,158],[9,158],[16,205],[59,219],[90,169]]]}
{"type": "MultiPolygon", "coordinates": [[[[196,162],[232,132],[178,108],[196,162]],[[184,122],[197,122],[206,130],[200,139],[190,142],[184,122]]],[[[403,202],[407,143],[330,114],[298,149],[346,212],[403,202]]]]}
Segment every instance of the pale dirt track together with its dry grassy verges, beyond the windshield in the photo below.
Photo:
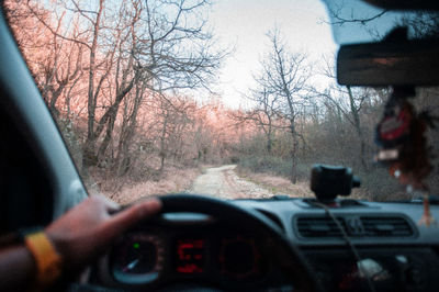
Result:
{"type": "MultiPolygon", "coordinates": [[[[250,172],[236,165],[203,168],[204,170],[175,168],[158,181],[131,182],[121,189],[100,192],[121,204],[128,204],[145,196],[181,192],[219,199],[263,199],[277,194],[313,196],[305,181],[293,184],[285,178],[250,172]]],[[[106,184],[113,186],[111,182],[106,184]]]]}

